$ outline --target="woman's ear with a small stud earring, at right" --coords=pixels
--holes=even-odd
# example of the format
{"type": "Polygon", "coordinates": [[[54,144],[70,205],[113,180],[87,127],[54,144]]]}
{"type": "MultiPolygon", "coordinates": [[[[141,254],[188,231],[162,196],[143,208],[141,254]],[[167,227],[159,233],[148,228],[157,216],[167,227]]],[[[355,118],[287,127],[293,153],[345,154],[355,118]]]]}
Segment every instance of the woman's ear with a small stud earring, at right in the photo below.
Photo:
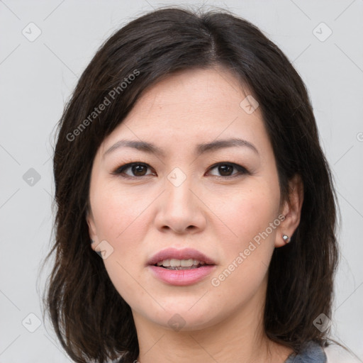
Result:
{"type": "Polygon", "coordinates": [[[286,245],[294,234],[300,223],[301,207],[303,206],[303,181],[299,174],[295,174],[289,181],[289,197],[282,206],[281,214],[285,219],[277,228],[275,247],[286,245]],[[282,236],[287,235],[289,240],[285,241],[282,236]]]}

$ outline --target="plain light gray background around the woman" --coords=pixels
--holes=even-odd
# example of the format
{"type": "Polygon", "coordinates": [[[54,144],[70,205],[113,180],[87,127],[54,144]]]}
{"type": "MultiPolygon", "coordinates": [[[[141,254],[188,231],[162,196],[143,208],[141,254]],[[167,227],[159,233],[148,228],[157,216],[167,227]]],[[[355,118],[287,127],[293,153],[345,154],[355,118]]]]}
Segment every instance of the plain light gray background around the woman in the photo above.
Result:
{"type": "MultiPolygon", "coordinates": [[[[132,18],[169,4],[192,3],[0,1],[0,363],[69,362],[40,306],[50,272],[39,266],[50,249],[55,124],[99,45],[132,18]],[[28,40],[36,27],[40,36],[28,40]]],[[[363,362],[363,1],[205,4],[259,26],[306,82],[342,214],[333,337],[363,362]]]]}

